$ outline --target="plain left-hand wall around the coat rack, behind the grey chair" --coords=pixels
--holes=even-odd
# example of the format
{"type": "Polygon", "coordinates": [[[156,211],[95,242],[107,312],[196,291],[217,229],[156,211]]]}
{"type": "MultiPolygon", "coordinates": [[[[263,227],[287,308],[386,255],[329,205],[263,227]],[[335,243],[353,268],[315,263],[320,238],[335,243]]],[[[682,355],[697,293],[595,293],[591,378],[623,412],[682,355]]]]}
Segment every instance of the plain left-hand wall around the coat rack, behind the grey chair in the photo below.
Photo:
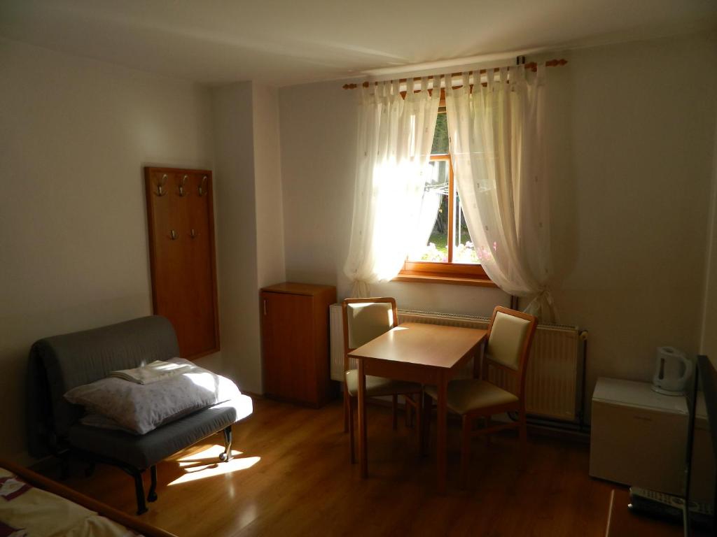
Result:
{"type": "Polygon", "coordinates": [[[0,40],[0,455],[35,340],[151,314],[143,165],[212,168],[209,92],[0,40]]]}

